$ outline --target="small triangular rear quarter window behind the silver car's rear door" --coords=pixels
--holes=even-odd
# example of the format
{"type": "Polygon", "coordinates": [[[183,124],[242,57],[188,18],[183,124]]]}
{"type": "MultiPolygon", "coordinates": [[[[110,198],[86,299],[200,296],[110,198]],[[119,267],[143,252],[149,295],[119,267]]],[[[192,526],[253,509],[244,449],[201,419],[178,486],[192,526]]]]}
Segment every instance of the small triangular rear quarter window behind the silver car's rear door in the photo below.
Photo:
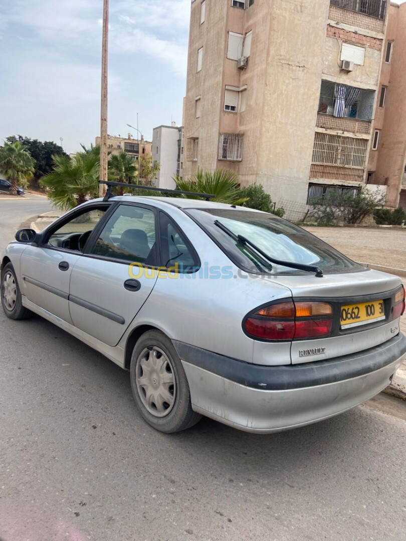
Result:
{"type": "Polygon", "coordinates": [[[160,213],[162,265],[177,266],[178,272],[190,272],[199,266],[199,260],[190,243],[175,223],[163,212],[160,213]]]}

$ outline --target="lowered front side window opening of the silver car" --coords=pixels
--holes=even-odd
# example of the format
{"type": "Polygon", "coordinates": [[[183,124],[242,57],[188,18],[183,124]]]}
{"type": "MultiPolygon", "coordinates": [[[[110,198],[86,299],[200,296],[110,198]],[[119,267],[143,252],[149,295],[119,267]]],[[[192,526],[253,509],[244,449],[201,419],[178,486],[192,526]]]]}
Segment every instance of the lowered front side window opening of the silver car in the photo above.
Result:
{"type": "Polygon", "coordinates": [[[84,245],[93,229],[97,226],[108,207],[100,206],[83,210],[79,215],[55,229],[45,245],[54,248],[83,251],[84,245]]]}

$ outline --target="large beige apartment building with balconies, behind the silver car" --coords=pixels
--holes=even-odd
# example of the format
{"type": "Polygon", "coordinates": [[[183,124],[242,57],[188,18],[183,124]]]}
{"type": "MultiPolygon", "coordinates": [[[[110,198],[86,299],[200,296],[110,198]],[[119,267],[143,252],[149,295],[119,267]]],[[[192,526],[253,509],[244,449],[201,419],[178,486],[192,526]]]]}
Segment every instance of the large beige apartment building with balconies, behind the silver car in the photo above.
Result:
{"type": "Polygon", "coordinates": [[[406,129],[398,122],[391,133],[397,113],[389,114],[390,103],[406,100],[405,11],[385,0],[192,0],[184,176],[198,167],[232,169],[242,185],[261,183],[293,208],[337,187],[357,189],[373,181],[368,172],[377,179],[385,169],[390,180],[371,189],[388,190],[388,203],[397,204],[395,166],[384,154],[400,152],[406,129]],[[374,161],[372,124],[394,10],[390,40],[403,45],[393,48],[374,161]]]}

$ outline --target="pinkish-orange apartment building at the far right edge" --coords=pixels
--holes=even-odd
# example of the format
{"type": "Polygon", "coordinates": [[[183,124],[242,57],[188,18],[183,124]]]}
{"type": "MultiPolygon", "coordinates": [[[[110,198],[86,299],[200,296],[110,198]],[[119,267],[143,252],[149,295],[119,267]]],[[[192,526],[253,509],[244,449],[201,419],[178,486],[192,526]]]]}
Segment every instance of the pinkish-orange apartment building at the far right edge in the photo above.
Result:
{"type": "Polygon", "coordinates": [[[387,187],[387,206],[406,210],[406,3],[390,4],[368,182],[387,187]]]}

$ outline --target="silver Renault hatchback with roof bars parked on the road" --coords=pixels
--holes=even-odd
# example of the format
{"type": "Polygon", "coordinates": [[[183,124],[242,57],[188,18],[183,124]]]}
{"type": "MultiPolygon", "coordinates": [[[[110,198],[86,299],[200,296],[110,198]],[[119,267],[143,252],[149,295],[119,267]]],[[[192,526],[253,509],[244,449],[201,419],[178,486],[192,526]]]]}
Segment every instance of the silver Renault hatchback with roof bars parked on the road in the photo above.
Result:
{"type": "Polygon", "coordinates": [[[16,240],[6,316],[41,315],[128,370],[162,432],[314,423],[382,391],[406,353],[400,279],[271,214],[107,196],[16,240]]]}

